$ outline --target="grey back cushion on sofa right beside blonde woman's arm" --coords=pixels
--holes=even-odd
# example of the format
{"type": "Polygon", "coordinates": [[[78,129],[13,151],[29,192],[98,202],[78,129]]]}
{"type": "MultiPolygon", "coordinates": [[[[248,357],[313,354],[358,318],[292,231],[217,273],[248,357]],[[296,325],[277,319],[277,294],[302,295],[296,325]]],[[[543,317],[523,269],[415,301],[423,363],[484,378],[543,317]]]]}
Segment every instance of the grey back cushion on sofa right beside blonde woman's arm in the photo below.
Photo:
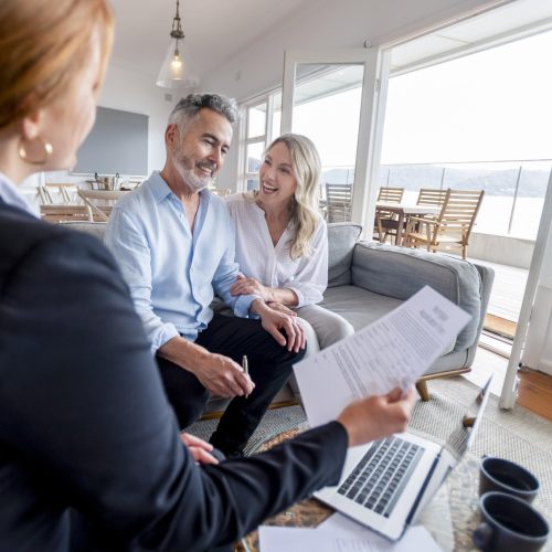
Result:
{"type": "Polygon", "coordinates": [[[328,287],[347,286],[351,283],[352,254],[361,232],[360,224],[328,224],[328,287]]]}

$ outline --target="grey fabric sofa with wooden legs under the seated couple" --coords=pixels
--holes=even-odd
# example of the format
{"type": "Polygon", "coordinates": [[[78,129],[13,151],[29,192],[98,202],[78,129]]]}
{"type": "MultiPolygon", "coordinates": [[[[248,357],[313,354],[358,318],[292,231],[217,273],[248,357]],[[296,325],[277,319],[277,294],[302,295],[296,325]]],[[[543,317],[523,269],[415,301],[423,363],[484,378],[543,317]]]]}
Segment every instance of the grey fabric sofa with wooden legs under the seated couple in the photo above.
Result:
{"type": "MultiPolygon", "coordinates": [[[[67,224],[103,238],[105,223],[67,224]]],[[[470,322],[417,383],[428,399],[428,380],[469,371],[487,311],[493,272],[457,257],[421,250],[359,242],[361,226],[328,225],[329,285],[322,306],[363,328],[388,314],[425,285],[471,315],[470,322]]],[[[211,410],[211,408],[210,408],[211,410]]]]}

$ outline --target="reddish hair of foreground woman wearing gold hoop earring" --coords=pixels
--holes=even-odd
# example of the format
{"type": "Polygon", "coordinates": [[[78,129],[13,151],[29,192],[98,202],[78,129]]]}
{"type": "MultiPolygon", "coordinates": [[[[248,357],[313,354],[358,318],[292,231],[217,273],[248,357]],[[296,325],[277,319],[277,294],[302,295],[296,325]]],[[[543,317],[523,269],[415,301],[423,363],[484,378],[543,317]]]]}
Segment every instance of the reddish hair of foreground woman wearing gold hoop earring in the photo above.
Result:
{"type": "Polygon", "coordinates": [[[107,0],[0,1],[0,128],[46,106],[86,63],[99,32],[102,81],[114,20],[107,0]]]}

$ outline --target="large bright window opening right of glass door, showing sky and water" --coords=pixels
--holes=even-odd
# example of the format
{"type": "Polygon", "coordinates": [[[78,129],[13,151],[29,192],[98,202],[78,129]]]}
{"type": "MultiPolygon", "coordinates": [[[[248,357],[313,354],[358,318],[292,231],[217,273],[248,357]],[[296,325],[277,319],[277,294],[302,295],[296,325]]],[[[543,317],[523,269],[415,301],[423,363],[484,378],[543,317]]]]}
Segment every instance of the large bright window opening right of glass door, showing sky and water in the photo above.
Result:
{"type": "Polygon", "coordinates": [[[380,185],[485,190],[475,232],[534,240],[552,167],[552,32],[389,82],[380,185]]]}

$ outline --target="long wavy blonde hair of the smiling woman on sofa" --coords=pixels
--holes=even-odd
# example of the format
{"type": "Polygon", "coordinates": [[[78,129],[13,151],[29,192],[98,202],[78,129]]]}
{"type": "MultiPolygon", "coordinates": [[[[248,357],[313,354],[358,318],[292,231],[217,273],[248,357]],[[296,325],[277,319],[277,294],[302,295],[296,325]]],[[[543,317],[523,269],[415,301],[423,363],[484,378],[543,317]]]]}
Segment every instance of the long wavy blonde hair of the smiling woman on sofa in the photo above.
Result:
{"type": "Polygon", "coordinates": [[[289,244],[293,259],[312,254],[311,240],[318,221],[318,185],[320,181],[320,156],[312,140],[302,135],[287,134],[276,138],[265,151],[270,151],[277,144],[285,144],[291,157],[297,188],[293,198],[291,220],[295,222],[295,236],[289,244]]]}

